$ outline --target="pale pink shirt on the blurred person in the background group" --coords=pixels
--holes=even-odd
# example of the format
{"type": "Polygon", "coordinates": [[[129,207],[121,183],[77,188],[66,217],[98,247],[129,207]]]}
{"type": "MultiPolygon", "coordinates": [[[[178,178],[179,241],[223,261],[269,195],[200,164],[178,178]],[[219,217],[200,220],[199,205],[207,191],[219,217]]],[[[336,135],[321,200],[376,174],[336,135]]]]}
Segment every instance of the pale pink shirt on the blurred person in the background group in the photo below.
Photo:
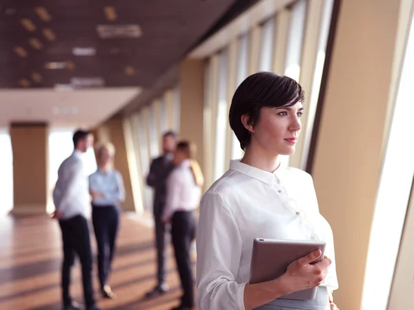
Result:
{"type": "Polygon", "coordinates": [[[172,170],[166,189],[166,205],[161,216],[164,222],[171,220],[176,211],[193,211],[199,206],[201,188],[195,184],[189,160],[172,170]]]}

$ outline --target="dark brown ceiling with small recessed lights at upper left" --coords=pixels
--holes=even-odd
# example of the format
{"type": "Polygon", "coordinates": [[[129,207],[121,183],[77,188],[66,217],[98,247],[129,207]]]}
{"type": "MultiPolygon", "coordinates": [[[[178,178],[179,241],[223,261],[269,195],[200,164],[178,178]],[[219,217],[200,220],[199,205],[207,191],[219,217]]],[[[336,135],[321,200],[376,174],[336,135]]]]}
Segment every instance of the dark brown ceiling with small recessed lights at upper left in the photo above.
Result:
{"type": "Polygon", "coordinates": [[[19,81],[38,72],[42,81],[30,87],[68,84],[73,77],[101,77],[108,87],[151,87],[164,72],[215,24],[235,0],[0,0],[0,88],[21,87],[19,81]],[[108,21],[104,7],[115,8],[117,19],[108,21]],[[46,8],[50,21],[43,21],[37,7],[46,8]],[[22,19],[35,26],[30,32],[22,19]],[[138,24],[139,38],[101,39],[97,25],[138,24]],[[50,28],[56,36],[43,34],[50,28]],[[41,49],[30,45],[37,39],[41,49]],[[23,48],[22,58],[14,51],[23,48]],[[93,56],[76,56],[72,49],[95,48],[93,56]],[[67,62],[72,70],[45,68],[49,62],[67,62]],[[125,72],[132,66],[134,74],[125,72]]]}

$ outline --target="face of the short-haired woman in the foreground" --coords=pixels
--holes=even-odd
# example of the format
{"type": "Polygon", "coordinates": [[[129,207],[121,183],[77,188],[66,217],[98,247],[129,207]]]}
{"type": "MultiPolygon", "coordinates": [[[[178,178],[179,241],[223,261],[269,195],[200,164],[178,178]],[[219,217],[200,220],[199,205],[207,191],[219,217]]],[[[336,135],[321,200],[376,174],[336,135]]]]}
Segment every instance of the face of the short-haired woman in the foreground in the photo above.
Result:
{"type": "Polygon", "coordinates": [[[253,130],[250,145],[258,145],[275,155],[295,153],[303,109],[300,102],[291,107],[262,107],[259,121],[250,128],[253,130]]]}

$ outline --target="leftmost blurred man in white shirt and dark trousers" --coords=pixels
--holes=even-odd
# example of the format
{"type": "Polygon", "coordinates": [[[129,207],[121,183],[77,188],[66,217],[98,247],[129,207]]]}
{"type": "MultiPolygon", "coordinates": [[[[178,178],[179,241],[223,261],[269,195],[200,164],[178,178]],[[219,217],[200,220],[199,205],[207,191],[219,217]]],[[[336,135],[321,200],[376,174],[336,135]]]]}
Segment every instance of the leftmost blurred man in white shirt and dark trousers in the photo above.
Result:
{"type": "Polygon", "coordinates": [[[72,301],[69,295],[70,270],[75,262],[75,254],[82,265],[83,296],[86,310],[99,310],[95,306],[92,288],[92,253],[88,218],[90,196],[88,175],[83,167],[83,153],[92,145],[93,136],[88,131],[77,130],[73,134],[74,151],[66,158],[58,170],[58,179],[53,200],[56,211],[54,218],[59,220],[63,240],[62,297],[64,310],[83,309],[72,301]]]}

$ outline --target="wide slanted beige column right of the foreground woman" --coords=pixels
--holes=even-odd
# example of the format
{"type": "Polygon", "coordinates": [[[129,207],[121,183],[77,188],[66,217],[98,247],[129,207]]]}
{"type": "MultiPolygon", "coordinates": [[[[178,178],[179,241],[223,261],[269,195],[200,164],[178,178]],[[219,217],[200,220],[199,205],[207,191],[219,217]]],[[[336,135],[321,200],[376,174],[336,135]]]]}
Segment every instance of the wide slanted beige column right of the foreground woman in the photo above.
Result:
{"type": "Polygon", "coordinates": [[[399,6],[347,0],[339,10],[312,174],[333,228],[341,310],[361,309],[399,6]]]}

